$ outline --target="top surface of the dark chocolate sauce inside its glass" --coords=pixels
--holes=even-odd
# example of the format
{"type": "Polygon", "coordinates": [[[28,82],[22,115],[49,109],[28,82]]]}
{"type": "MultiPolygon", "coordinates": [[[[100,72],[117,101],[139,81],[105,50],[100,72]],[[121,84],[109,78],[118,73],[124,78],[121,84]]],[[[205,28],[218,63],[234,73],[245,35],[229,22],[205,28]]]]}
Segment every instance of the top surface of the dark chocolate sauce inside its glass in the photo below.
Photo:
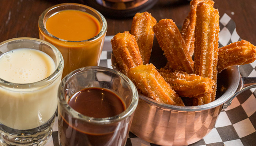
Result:
{"type": "Polygon", "coordinates": [[[103,88],[86,88],[76,92],[68,104],[80,114],[94,118],[112,117],[125,110],[120,97],[103,88]]]}

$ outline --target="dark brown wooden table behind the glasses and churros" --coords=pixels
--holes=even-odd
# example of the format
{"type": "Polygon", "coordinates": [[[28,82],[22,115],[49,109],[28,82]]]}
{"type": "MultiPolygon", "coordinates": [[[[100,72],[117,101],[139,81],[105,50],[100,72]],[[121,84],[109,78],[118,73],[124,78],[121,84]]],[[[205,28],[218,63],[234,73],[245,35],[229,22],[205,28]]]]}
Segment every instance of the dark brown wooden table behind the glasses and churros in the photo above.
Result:
{"type": "MultiPolygon", "coordinates": [[[[83,3],[88,0],[1,0],[0,5],[0,42],[16,37],[38,38],[38,18],[48,7],[64,3],[83,3]]],[[[256,1],[255,0],[215,0],[219,14],[229,15],[236,23],[237,33],[242,39],[256,45],[256,1]]],[[[177,26],[182,26],[189,12],[187,0],[158,0],[148,9],[157,21],[170,18],[177,26]]],[[[104,15],[104,14],[103,14],[104,15]]],[[[130,30],[132,18],[107,18],[107,35],[130,30]]]]}

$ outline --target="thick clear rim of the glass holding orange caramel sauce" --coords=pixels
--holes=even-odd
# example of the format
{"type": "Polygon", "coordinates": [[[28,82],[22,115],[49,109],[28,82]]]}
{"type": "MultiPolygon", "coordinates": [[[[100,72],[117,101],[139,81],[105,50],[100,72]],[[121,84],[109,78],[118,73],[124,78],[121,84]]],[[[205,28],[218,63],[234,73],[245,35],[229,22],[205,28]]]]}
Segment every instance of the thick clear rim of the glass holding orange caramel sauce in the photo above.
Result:
{"type": "Polygon", "coordinates": [[[83,5],[83,4],[77,4],[77,3],[62,3],[62,4],[57,4],[57,5],[54,5],[48,9],[46,9],[44,12],[42,12],[42,14],[40,15],[39,19],[38,19],[38,26],[39,26],[39,29],[44,32],[46,35],[48,35],[48,37],[52,37],[52,38],[55,38],[55,39],[58,39],[60,41],[63,41],[63,42],[89,42],[89,41],[94,41],[94,40],[97,40],[98,38],[102,37],[102,35],[104,35],[107,31],[107,28],[108,28],[108,24],[107,24],[107,21],[106,19],[104,18],[104,16],[98,12],[96,9],[94,8],[91,8],[87,5],[83,5]],[[50,32],[48,32],[45,28],[45,24],[44,24],[44,18],[46,16],[46,14],[48,14],[48,12],[56,9],[56,8],[59,8],[59,7],[68,7],[68,6],[77,6],[79,8],[84,8],[84,9],[90,9],[91,11],[93,11],[95,14],[97,14],[99,16],[99,18],[101,19],[102,21],[102,28],[101,28],[101,31],[93,38],[90,38],[90,39],[86,39],[86,40],[83,40],[83,41],[68,41],[68,40],[65,40],[65,39],[61,39],[61,38],[58,38],[58,37],[55,37],[54,35],[50,34],[50,32]]]}

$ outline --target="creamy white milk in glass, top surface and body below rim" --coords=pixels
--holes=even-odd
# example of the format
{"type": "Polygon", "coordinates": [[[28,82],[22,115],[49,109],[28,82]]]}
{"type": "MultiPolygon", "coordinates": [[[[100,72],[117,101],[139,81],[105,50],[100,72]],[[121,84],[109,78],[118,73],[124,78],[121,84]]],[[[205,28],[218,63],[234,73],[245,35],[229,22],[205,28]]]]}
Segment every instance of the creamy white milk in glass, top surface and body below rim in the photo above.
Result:
{"type": "MultiPolygon", "coordinates": [[[[28,84],[41,81],[55,70],[52,58],[35,49],[15,49],[0,57],[0,78],[13,83],[28,84]]],[[[25,130],[38,127],[57,108],[58,84],[24,93],[0,88],[0,122],[5,126],[25,130]],[[42,96],[38,96],[42,95],[42,96]]]]}

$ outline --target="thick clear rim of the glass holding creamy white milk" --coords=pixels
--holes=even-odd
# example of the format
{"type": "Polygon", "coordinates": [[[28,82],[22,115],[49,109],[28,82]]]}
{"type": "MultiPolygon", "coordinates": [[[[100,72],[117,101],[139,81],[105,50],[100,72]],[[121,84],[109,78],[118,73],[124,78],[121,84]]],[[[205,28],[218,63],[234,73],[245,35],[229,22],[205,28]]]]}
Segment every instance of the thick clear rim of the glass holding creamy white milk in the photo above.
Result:
{"type": "MultiPolygon", "coordinates": [[[[17,41],[20,41],[20,42],[22,42],[22,41],[33,41],[33,42],[39,42],[39,43],[43,43],[45,45],[48,45],[53,50],[56,57],[59,58],[60,60],[59,60],[59,62],[57,62],[57,65],[56,65],[56,68],[55,68],[54,72],[50,76],[46,77],[45,79],[43,79],[41,81],[26,83],[26,84],[19,84],[19,83],[8,82],[8,81],[5,81],[4,79],[0,78],[0,85],[1,86],[8,87],[8,88],[14,88],[15,87],[15,89],[29,89],[29,88],[34,88],[34,87],[39,87],[39,86],[44,86],[46,84],[49,84],[50,82],[52,82],[53,80],[55,80],[57,77],[60,76],[61,71],[64,68],[64,60],[63,60],[63,57],[62,57],[60,51],[55,46],[53,46],[52,44],[50,44],[46,41],[43,41],[41,39],[22,37],[22,38],[8,39],[4,42],[1,42],[0,47],[5,45],[6,43],[17,42],[17,41]]],[[[33,48],[31,48],[31,49],[33,49],[33,48]]]]}

